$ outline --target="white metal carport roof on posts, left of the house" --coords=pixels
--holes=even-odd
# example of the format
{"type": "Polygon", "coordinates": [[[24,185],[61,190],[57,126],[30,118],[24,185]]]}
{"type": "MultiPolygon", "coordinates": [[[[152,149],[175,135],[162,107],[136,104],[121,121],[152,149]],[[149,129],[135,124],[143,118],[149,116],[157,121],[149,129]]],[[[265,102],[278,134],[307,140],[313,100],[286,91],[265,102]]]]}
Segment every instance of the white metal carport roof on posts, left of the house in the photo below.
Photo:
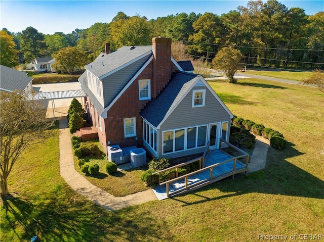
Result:
{"type": "MultiPolygon", "coordinates": [[[[48,91],[38,92],[36,94],[28,94],[28,99],[33,100],[51,100],[53,109],[53,118],[55,118],[55,100],[59,99],[72,99],[72,98],[84,98],[86,96],[82,89],[77,90],[64,90],[64,91],[48,91]]],[[[84,106],[84,99],[81,100],[84,106]]]]}

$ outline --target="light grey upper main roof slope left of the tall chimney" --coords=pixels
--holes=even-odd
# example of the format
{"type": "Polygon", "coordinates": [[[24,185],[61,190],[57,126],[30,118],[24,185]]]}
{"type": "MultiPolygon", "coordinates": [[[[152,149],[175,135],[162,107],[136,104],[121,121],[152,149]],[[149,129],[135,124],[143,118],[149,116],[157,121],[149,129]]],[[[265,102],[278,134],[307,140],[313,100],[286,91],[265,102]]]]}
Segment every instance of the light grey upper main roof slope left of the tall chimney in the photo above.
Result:
{"type": "Polygon", "coordinates": [[[112,73],[123,69],[125,66],[136,62],[152,52],[152,46],[123,46],[115,52],[108,55],[101,53],[94,62],[85,66],[96,77],[103,79],[112,73]],[[102,65],[103,64],[103,65],[102,65]]]}

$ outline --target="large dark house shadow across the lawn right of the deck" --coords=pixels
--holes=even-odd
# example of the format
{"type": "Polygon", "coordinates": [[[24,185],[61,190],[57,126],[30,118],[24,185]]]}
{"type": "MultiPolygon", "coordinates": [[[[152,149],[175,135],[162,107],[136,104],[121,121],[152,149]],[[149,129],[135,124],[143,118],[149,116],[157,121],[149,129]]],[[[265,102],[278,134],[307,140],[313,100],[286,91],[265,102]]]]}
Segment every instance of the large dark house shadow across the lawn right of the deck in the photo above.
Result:
{"type": "MultiPolygon", "coordinates": [[[[300,155],[303,155],[303,153],[297,151],[293,143],[288,143],[288,146],[282,151],[269,148],[267,164],[264,170],[256,171],[246,176],[241,173],[235,175],[235,179],[228,177],[172,199],[184,203],[184,206],[254,192],[324,199],[324,181],[287,161],[288,158],[300,155]],[[219,189],[230,194],[218,197],[201,196],[202,192],[211,189],[219,189]],[[195,202],[186,202],[185,196],[187,194],[195,195],[201,199],[195,202]]],[[[209,194],[212,195],[213,193],[209,194]]]]}

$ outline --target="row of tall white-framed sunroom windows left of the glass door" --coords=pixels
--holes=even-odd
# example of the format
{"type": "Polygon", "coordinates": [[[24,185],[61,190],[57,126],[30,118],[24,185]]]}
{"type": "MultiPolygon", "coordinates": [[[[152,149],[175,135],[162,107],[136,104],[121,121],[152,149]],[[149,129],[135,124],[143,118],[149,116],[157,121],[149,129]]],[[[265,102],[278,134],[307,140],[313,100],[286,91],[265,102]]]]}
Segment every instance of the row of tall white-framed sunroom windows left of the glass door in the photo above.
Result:
{"type": "Polygon", "coordinates": [[[163,154],[206,146],[207,125],[167,130],[163,132],[163,154]]]}

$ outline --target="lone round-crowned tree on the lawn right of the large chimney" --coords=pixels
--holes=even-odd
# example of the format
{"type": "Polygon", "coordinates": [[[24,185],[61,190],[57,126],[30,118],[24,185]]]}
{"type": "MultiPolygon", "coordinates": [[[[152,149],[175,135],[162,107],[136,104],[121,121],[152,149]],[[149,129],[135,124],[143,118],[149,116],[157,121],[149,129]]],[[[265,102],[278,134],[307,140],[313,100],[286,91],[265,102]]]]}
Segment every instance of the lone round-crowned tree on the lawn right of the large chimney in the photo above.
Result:
{"type": "Polygon", "coordinates": [[[228,82],[235,83],[235,72],[239,69],[243,55],[232,46],[223,47],[213,59],[213,67],[225,72],[228,82]]]}

